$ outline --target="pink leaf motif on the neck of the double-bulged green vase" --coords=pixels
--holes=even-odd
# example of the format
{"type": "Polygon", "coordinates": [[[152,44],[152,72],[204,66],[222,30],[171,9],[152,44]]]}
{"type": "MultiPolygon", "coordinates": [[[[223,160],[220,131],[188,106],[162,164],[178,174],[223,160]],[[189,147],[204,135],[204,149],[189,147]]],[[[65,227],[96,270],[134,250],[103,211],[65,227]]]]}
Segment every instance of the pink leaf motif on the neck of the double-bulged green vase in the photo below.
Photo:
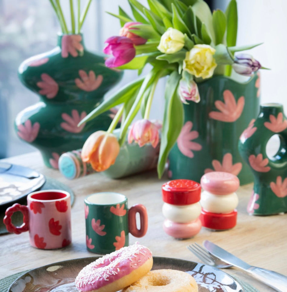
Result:
{"type": "Polygon", "coordinates": [[[67,58],[70,55],[78,57],[78,52],[83,52],[84,47],[81,44],[82,37],[80,34],[66,34],[62,37],[61,56],[67,58]]]}

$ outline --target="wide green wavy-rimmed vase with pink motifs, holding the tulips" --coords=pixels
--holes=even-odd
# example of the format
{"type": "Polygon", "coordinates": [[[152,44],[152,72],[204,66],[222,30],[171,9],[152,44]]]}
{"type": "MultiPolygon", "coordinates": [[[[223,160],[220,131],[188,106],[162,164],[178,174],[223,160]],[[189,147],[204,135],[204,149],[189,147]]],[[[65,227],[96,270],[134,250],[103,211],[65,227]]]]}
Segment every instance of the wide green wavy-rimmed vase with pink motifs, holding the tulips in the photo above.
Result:
{"type": "Polygon", "coordinates": [[[198,84],[200,102],[184,107],[184,123],[169,154],[170,179],[200,182],[209,171],[237,175],[241,184],[252,182],[249,166],[238,151],[238,140],[259,112],[259,74],[246,83],[214,76],[198,84]]]}

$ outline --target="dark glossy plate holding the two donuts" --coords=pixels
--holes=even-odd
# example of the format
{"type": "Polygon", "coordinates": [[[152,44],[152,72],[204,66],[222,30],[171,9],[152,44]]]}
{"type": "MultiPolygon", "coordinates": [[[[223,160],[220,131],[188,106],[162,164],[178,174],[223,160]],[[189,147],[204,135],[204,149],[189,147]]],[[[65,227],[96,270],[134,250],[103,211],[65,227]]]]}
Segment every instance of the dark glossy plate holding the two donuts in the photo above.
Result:
{"type": "MultiPolygon", "coordinates": [[[[28,271],[15,280],[8,292],[78,292],[74,281],[81,269],[98,257],[78,258],[28,271]]],[[[153,257],[153,270],[174,269],[191,274],[200,292],[244,292],[229,274],[208,265],[175,258],[153,257]]]]}

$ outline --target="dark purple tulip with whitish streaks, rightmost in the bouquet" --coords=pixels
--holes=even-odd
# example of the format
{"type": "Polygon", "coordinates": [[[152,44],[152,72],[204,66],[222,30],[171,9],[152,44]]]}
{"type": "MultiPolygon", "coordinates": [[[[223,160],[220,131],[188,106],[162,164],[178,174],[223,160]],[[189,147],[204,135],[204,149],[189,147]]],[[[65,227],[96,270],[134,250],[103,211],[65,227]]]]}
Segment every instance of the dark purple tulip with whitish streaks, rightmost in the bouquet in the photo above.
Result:
{"type": "Polygon", "coordinates": [[[251,76],[253,72],[261,68],[261,65],[251,55],[239,54],[235,56],[232,67],[235,72],[241,75],[251,76]]]}

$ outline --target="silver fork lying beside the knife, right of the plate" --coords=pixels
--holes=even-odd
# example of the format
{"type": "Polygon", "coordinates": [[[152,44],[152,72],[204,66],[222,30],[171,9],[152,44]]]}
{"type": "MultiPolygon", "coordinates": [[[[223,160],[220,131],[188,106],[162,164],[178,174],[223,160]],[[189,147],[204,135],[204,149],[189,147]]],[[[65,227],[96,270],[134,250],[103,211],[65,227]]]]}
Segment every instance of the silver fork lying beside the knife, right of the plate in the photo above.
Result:
{"type": "Polygon", "coordinates": [[[205,264],[209,266],[213,266],[218,269],[226,269],[233,267],[231,264],[227,264],[225,261],[220,260],[216,256],[212,255],[205,248],[201,247],[196,242],[192,245],[187,246],[187,248],[196,255],[200,260],[202,260],[205,264]]]}

